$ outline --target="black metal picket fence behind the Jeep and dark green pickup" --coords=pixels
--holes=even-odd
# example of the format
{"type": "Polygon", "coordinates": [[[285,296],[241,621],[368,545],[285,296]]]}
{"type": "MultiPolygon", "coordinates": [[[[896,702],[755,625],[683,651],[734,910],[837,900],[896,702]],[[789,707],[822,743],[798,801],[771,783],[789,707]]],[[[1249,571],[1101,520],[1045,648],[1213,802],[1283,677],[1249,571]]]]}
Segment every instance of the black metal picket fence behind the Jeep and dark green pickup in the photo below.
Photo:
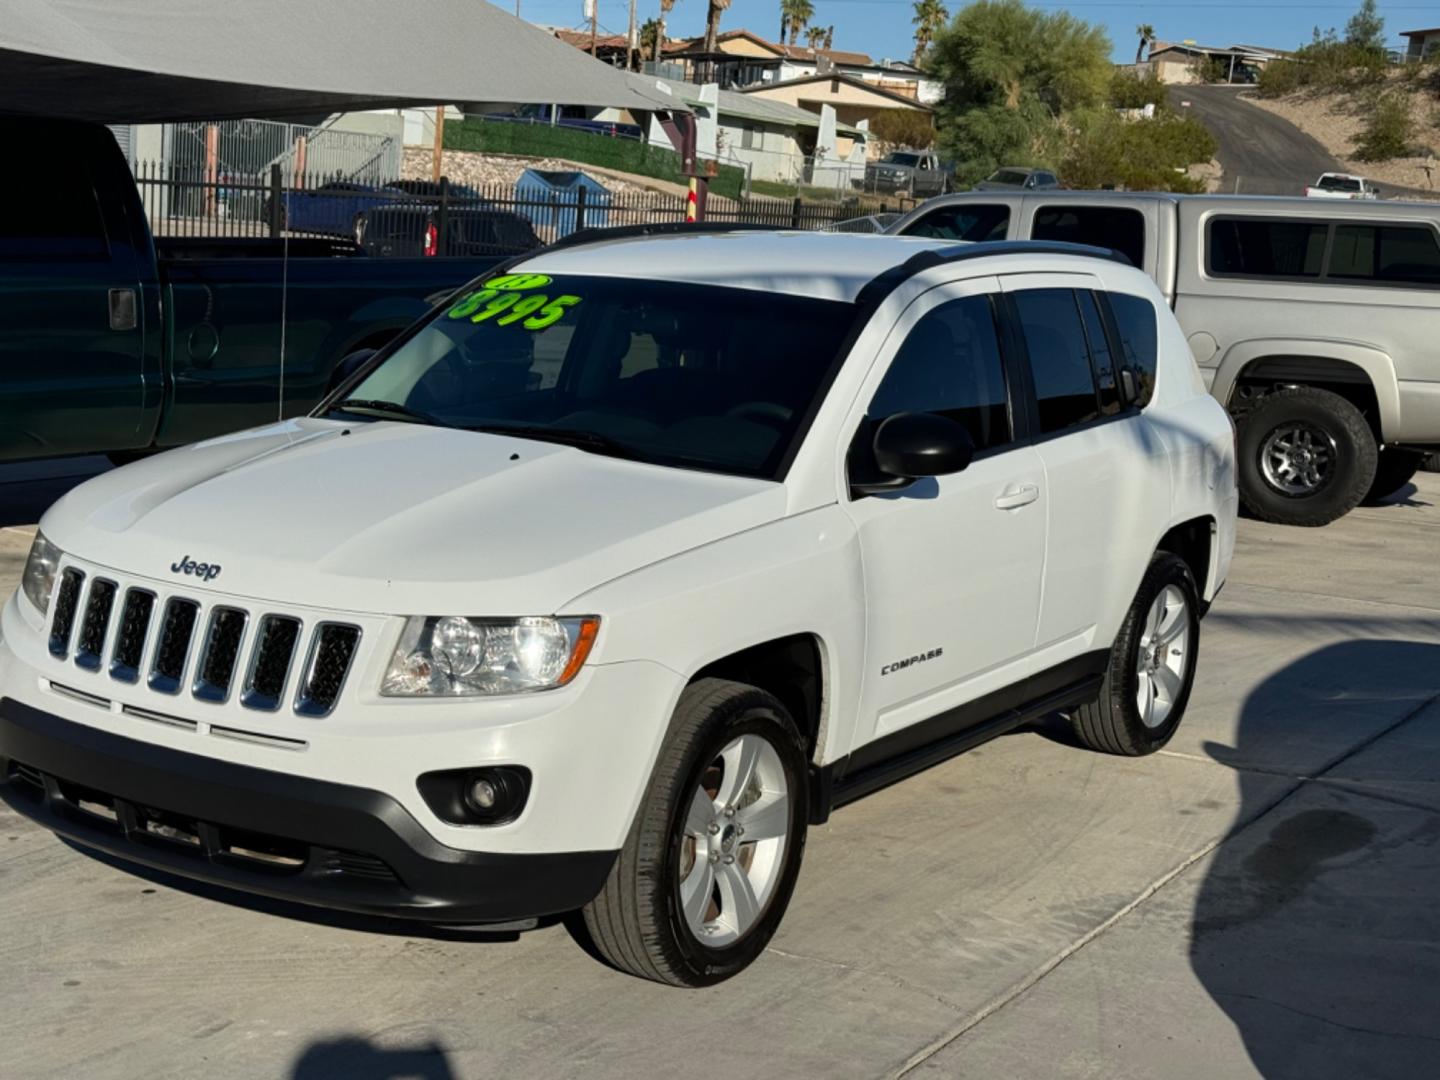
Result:
{"type": "MultiPolygon", "coordinates": [[[[399,180],[373,186],[343,176],[287,173],[278,163],[261,176],[232,176],[212,174],[203,166],[141,161],[135,164],[135,183],[150,228],[161,238],[338,238],[372,255],[469,253],[481,243],[474,239],[481,232],[491,246],[524,251],[579,229],[685,219],[683,194],[477,187],[444,179],[433,184],[399,180]]],[[[827,229],[899,209],[860,197],[825,203],[713,197],[704,217],[776,229],[827,229]]]]}

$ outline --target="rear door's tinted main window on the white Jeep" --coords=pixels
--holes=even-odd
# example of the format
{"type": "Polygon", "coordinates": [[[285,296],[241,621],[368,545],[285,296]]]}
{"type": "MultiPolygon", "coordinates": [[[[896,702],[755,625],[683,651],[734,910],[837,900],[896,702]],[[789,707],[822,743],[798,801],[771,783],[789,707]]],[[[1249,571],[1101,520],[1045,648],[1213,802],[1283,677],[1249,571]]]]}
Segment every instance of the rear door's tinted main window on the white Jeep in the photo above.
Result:
{"type": "Polygon", "coordinates": [[[1040,405],[1040,431],[1074,428],[1100,415],[1090,347],[1071,289],[1014,294],[1040,405]]]}

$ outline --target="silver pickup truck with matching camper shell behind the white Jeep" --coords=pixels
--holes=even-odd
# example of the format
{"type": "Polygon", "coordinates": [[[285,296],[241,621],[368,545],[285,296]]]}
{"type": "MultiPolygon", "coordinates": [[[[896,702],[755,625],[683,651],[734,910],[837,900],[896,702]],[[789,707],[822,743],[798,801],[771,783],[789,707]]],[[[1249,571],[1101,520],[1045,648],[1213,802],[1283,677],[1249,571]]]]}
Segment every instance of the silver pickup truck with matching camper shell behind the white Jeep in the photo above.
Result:
{"type": "Polygon", "coordinates": [[[972,192],[886,232],[1119,251],[1175,308],[1236,420],[1257,517],[1323,526],[1440,449],[1440,206],[972,192]]]}

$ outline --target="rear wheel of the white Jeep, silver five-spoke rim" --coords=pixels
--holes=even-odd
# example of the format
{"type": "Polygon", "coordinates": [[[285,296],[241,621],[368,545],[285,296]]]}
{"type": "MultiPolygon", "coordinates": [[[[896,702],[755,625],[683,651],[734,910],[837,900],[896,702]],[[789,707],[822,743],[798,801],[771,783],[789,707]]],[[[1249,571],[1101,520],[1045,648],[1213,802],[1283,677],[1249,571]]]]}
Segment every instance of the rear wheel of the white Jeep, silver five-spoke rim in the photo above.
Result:
{"type": "Polygon", "coordinates": [[[1128,757],[1159,750],[1185,714],[1198,655],[1195,576],[1179,556],[1156,552],[1110,647],[1100,696],[1070,716],[1076,737],[1128,757]]]}

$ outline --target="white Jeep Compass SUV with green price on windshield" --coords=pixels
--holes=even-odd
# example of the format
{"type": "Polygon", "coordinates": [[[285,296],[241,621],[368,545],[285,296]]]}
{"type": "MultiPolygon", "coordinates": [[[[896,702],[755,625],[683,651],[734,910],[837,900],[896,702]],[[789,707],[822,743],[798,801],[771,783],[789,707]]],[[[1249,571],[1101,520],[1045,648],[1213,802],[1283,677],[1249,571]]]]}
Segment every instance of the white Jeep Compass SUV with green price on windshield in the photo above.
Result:
{"type": "Polygon", "coordinates": [[[98,477],[0,644],[0,793],[81,844],[744,968],[808,825],[1066,711],[1149,753],[1234,433],[1103,252],[639,229],[456,292],[312,415],[98,477]]]}

